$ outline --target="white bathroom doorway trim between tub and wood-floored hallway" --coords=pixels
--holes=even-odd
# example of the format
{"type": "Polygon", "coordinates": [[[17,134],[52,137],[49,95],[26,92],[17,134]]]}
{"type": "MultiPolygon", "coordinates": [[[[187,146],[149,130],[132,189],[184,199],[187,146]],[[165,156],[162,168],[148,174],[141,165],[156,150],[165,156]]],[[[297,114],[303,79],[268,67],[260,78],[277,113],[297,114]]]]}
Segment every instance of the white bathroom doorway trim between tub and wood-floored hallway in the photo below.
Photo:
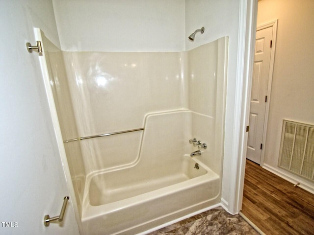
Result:
{"type": "MultiPolygon", "coordinates": [[[[233,165],[229,174],[229,191],[226,193],[227,200],[223,197],[221,205],[230,213],[236,214],[242,208],[245,160],[248,132],[245,131],[249,124],[250,97],[253,74],[254,49],[257,30],[257,8],[258,0],[240,0],[239,11],[239,35],[238,35],[238,60],[236,75],[239,85],[236,87],[235,96],[235,120],[234,120],[234,141],[232,143],[232,159],[229,164],[233,165]]],[[[277,20],[273,29],[273,37],[277,33],[277,20]]],[[[260,25],[259,27],[264,26],[260,25]]],[[[276,40],[273,41],[274,46],[276,40]]],[[[275,51],[275,50],[273,50],[275,51]]],[[[274,52],[273,52],[274,53],[274,52]]],[[[273,57],[274,58],[274,57],[273,57]]],[[[273,61],[271,61],[273,63],[273,61]]],[[[273,68],[271,74],[273,73],[273,68]]],[[[270,86],[271,87],[271,86],[270,86]]],[[[270,94],[267,92],[267,94],[270,94]]],[[[268,102],[269,103],[269,102],[268,102]]],[[[269,109],[269,104],[267,106],[269,109]]],[[[268,120],[268,111],[267,111],[268,120]]],[[[262,160],[262,159],[261,159],[262,160]]],[[[223,182],[224,183],[224,182],[223,182]]]]}

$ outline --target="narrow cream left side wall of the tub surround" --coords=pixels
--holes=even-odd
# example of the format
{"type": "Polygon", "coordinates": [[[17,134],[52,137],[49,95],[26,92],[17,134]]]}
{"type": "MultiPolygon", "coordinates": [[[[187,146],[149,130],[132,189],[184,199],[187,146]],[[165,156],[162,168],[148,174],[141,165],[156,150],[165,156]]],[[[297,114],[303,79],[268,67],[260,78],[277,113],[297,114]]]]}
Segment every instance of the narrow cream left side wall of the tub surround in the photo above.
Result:
{"type": "MultiPolygon", "coordinates": [[[[45,50],[45,59],[49,73],[50,85],[54,99],[55,109],[58,115],[59,126],[64,141],[64,149],[70,169],[78,211],[81,214],[81,205],[86,179],[86,172],[80,150],[76,118],[73,112],[73,104],[70,96],[67,74],[64,66],[62,51],[47,39],[41,32],[42,43],[45,50]]],[[[73,200],[73,198],[72,198],[73,200]]],[[[75,200],[74,200],[75,201],[75,200]]]]}

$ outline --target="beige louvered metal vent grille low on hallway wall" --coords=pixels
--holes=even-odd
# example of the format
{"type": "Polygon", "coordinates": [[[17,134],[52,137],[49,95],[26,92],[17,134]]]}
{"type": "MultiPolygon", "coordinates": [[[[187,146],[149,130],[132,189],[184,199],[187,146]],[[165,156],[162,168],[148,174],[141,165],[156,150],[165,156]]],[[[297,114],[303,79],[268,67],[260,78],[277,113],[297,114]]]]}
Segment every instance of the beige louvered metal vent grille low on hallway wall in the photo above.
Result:
{"type": "Polygon", "coordinates": [[[314,126],[284,120],[278,166],[314,181],[314,126]]]}

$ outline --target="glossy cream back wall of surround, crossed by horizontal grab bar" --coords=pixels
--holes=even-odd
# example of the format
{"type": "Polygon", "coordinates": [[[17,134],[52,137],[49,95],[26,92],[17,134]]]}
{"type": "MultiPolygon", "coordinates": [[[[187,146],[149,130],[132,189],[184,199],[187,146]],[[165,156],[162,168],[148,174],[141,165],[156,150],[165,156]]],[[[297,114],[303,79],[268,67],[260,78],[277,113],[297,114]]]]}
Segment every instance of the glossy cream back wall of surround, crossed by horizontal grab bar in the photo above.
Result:
{"type": "MultiPolygon", "coordinates": [[[[79,137],[142,128],[148,113],[187,108],[185,52],[63,53],[79,137]]],[[[86,174],[132,164],[142,134],[80,141],[86,174]]]]}

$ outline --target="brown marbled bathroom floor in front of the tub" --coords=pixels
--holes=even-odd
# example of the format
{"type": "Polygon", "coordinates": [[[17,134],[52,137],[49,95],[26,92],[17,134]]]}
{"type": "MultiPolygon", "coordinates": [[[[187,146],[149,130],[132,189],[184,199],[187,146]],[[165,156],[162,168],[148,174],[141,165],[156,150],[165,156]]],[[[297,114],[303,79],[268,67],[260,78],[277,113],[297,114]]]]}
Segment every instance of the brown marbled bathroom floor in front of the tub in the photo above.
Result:
{"type": "Polygon", "coordinates": [[[222,207],[194,215],[148,235],[259,235],[240,215],[222,207]]]}

